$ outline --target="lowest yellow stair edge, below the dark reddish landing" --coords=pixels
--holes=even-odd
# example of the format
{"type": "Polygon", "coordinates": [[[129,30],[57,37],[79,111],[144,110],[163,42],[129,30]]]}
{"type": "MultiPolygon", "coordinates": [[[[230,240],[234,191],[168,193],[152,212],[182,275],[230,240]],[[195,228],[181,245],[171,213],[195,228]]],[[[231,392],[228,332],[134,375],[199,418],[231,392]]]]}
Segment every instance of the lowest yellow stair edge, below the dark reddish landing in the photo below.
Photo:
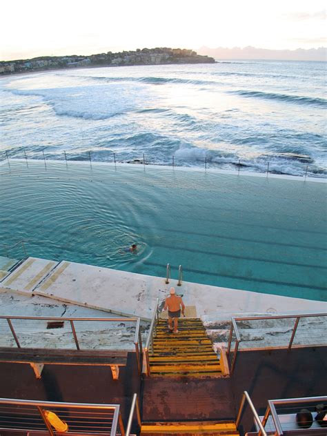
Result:
{"type": "Polygon", "coordinates": [[[238,436],[234,422],[186,421],[186,422],[145,422],[141,426],[141,436],[202,435],[238,436]]]}

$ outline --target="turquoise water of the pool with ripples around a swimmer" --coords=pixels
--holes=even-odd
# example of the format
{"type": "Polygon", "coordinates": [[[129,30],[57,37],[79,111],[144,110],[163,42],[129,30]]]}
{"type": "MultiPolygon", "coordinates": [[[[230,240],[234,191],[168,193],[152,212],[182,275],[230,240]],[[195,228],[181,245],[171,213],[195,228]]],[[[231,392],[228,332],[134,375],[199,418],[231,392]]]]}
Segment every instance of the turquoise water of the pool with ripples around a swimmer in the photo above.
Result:
{"type": "Polygon", "coordinates": [[[53,161],[3,163],[0,177],[0,245],[163,277],[181,264],[186,281],[327,301],[324,183],[53,161]]]}

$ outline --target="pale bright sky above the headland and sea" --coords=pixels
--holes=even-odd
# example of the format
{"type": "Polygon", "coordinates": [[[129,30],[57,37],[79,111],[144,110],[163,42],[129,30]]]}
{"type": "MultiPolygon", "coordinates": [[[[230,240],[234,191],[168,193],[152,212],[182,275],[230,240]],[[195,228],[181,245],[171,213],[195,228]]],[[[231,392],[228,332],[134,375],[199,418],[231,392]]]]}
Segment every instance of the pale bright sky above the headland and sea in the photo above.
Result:
{"type": "Polygon", "coordinates": [[[0,60],[201,46],[326,46],[325,0],[10,0],[0,60]]]}

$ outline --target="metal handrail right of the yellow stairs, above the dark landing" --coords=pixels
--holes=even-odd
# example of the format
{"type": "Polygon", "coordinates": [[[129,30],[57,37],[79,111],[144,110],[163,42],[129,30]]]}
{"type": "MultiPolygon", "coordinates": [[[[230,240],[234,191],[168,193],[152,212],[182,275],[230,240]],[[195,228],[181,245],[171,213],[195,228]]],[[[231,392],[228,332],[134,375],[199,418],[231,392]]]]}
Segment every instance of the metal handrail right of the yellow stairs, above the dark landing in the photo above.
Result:
{"type": "MultiPolygon", "coordinates": [[[[301,318],[310,318],[310,317],[326,317],[327,313],[304,313],[304,314],[294,314],[294,315],[265,315],[265,316],[259,316],[259,317],[232,317],[232,322],[230,326],[230,335],[228,339],[228,347],[227,347],[227,354],[228,356],[231,356],[232,353],[234,353],[231,361],[231,369],[230,372],[232,373],[235,368],[235,362],[237,357],[237,350],[239,348],[239,343],[241,342],[241,336],[239,335],[239,330],[237,328],[237,321],[257,321],[258,319],[288,319],[288,318],[295,318],[295,325],[293,327],[293,332],[290,337],[290,341],[288,343],[288,350],[290,351],[293,345],[293,341],[295,338],[295,333],[297,331],[297,326],[299,325],[299,320],[301,318]],[[236,335],[236,341],[235,341],[235,349],[232,352],[230,350],[231,344],[232,344],[232,333],[235,332],[236,335]]],[[[273,347],[272,347],[273,348],[273,347]]]]}

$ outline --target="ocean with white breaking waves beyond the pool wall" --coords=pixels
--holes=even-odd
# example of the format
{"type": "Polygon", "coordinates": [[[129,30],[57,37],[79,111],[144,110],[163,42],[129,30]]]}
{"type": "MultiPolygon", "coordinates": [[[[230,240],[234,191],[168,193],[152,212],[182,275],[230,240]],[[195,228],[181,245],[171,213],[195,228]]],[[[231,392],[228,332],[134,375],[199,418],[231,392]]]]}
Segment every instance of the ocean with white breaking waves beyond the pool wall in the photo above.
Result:
{"type": "Polygon", "coordinates": [[[326,63],[87,68],[0,79],[1,160],[326,177],[326,63]],[[90,153],[89,153],[90,152],[90,153]],[[26,155],[25,155],[26,153],[26,155]]]}

